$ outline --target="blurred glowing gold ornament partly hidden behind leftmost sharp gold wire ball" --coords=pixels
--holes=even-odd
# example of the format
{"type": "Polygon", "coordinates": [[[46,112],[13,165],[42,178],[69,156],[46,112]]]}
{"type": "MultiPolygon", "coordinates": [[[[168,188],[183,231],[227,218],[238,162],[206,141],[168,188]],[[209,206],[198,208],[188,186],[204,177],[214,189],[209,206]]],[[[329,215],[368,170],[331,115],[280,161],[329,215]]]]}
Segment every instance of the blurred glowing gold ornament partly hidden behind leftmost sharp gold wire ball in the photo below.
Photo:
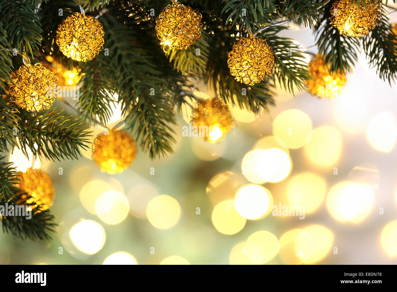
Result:
{"type": "Polygon", "coordinates": [[[65,68],[62,64],[54,60],[52,56],[46,56],[46,60],[50,64],[44,63],[43,66],[55,74],[60,86],[76,86],[80,82],[81,76],[84,75],[84,73],[80,75],[81,70],[77,68],[65,68]]]}

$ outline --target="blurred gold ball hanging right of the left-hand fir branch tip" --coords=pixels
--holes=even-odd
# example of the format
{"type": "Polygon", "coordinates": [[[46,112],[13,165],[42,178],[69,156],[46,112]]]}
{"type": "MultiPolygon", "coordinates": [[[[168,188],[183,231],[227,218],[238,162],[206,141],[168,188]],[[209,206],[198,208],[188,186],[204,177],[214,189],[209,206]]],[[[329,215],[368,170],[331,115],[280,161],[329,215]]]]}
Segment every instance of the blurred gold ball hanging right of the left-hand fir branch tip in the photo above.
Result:
{"type": "Polygon", "coordinates": [[[116,174],[132,164],[137,156],[137,146],[125,131],[107,130],[96,136],[92,154],[102,172],[116,174]]]}

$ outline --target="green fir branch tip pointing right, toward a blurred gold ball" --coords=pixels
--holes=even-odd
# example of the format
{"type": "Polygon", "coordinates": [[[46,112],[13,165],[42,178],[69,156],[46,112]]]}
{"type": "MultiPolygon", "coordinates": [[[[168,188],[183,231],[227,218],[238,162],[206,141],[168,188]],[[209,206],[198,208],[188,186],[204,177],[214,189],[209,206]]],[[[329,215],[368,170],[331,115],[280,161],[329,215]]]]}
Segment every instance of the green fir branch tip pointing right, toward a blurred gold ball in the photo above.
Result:
{"type": "Polygon", "coordinates": [[[24,113],[20,123],[19,139],[22,151],[26,147],[33,155],[43,155],[46,159],[78,159],[80,148],[90,148],[88,137],[91,132],[76,116],[52,108],[39,114],[24,113]]]}

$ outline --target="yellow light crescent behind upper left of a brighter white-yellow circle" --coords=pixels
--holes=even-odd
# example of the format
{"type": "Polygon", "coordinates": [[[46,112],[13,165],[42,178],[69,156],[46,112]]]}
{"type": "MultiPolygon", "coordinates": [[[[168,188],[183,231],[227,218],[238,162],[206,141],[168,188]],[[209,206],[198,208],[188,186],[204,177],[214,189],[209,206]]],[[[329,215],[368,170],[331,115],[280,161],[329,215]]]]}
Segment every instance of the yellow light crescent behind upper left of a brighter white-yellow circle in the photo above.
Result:
{"type": "Polygon", "coordinates": [[[80,191],[81,204],[91,214],[96,214],[96,200],[102,193],[111,190],[112,186],[110,186],[106,182],[103,182],[102,180],[93,180],[91,182],[87,182],[87,184],[85,184],[80,191]]]}

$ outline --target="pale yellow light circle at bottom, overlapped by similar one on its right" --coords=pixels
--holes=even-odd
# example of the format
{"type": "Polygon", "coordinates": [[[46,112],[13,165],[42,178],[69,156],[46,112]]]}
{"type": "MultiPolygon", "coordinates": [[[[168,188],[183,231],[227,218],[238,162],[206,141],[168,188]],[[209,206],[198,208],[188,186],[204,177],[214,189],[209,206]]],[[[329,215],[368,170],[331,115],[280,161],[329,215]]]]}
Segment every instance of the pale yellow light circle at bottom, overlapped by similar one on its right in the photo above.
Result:
{"type": "Polygon", "coordinates": [[[279,240],[279,256],[287,265],[299,265],[310,258],[316,244],[312,234],[303,229],[285,232],[279,240]]]}

